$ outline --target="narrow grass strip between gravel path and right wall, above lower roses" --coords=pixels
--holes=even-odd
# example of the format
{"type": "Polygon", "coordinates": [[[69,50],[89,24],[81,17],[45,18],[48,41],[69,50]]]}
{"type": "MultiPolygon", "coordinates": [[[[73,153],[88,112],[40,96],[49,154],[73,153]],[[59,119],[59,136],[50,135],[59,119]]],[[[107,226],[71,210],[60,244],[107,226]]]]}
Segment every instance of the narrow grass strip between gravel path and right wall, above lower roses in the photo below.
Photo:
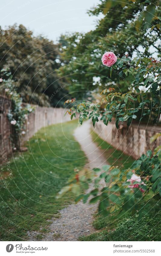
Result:
{"type": "Polygon", "coordinates": [[[134,163],[132,156],[124,154],[121,150],[116,150],[106,141],[98,137],[94,131],[91,131],[91,136],[93,141],[103,149],[107,162],[109,162],[110,165],[118,166],[120,169],[128,169],[132,163],[134,163]]]}

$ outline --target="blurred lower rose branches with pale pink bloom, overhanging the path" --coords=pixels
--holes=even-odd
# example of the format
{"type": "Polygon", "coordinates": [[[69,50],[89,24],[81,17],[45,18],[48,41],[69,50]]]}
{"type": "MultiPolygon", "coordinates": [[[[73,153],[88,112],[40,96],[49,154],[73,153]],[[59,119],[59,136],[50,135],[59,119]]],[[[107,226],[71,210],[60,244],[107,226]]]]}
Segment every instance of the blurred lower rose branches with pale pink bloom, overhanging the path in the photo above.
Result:
{"type": "Polygon", "coordinates": [[[118,166],[103,166],[102,169],[76,170],[76,175],[59,192],[62,196],[67,191],[77,195],[76,202],[83,200],[98,203],[98,211],[108,216],[115,211],[129,211],[132,215],[141,218],[148,215],[151,209],[150,199],[160,200],[161,197],[161,150],[152,156],[151,151],[134,161],[133,166],[126,170],[118,166]],[[156,157],[157,156],[157,157],[156,157]],[[100,175],[97,175],[101,172],[100,175]],[[138,176],[139,175],[139,176],[138,176]],[[93,182],[92,189],[89,184],[93,182]],[[101,184],[101,185],[100,185],[101,184]],[[86,192],[85,192],[86,190],[86,192]],[[89,192],[88,192],[89,191],[89,192]]]}

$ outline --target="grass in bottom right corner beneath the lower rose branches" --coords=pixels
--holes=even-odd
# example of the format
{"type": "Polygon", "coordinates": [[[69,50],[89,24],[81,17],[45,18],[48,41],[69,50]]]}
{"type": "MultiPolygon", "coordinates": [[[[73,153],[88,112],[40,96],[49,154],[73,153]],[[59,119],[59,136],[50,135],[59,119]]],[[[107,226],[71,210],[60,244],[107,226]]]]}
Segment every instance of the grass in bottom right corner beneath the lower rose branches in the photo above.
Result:
{"type": "Polygon", "coordinates": [[[141,220],[125,213],[122,216],[116,213],[106,218],[101,215],[96,217],[93,226],[99,231],[81,237],[80,241],[160,241],[161,229],[160,207],[161,204],[151,200],[152,210],[141,220]]]}

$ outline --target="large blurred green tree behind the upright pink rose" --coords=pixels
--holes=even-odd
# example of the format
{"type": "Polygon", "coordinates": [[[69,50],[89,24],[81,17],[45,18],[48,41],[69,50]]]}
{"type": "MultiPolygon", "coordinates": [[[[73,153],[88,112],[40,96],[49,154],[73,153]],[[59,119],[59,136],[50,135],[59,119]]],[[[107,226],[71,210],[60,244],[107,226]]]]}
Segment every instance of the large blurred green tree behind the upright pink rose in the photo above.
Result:
{"type": "MultiPolygon", "coordinates": [[[[87,99],[84,97],[84,91],[88,91],[87,96],[90,91],[94,90],[97,94],[103,89],[108,91],[109,88],[114,88],[117,96],[118,93],[125,95],[130,91],[129,96],[134,96],[134,105],[138,107],[137,120],[142,118],[142,121],[147,121],[147,117],[143,115],[145,113],[142,113],[142,106],[145,104],[152,109],[160,104],[159,92],[154,93],[158,88],[154,82],[160,82],[160,63],[156,60],[160,57],[161,45],[159,1],[106,0],[90,10],[89,14],[104,15],[94,31],[66,35],[67,46],[62,53],[65,65],[61,72],[71,81],[70,90],[76,91],[76,100],[87,99]],[[106,51],[112,51],[118,57],[116,65],[111,69],[101,62],[101,57],[106,51]],[[155,95],[147,93],[149,87],[149,91],[155,95]],[[145,92],[146,97],[142,98],[144,94],[138,96],[140,92],[145,92]],[[156,102],[155,106],[152,106],[154,98],[156,102]]],[[[113,93],[111,98],[112,96],[113,93]]],[[[125,101],[128,98],[128,95],[126,96],[125,101]]],[[[115,98],[114,96],[112,100],[115,98]]],[[[109,101],[109,97],[106,100],[109,101]]],[[[104,108],[104,101],[100,107],[104,108]]],[[[155,112],[155,109],[151,115],[147,110],[147,114],[150,121],[156,122],[158,112],[155,112]]],[[[104,122],[107,123],[108,120],[104,119],[104,122]]]]}

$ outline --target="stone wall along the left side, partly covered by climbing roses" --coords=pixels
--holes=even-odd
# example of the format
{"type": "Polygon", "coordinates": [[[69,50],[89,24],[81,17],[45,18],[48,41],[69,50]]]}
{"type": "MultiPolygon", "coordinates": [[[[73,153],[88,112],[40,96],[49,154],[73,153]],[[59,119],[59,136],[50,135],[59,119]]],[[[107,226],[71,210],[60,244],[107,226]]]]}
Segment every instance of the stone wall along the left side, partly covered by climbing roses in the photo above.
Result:
{"type": "MultiPolygon", "coordinates": [[[[9,124],[7,116],[10,108],[11,101],[0,96],[0,163],[12,152],[10,135],[14,133],[14,129],[13,125],[9,124]]],[[[63,108],[35,106],[35,111],[27,117],[26,133],[21,135],[19,143],[22,145],[44,126],[70,121],[70,115],[64,114],[63,108]]]]}

